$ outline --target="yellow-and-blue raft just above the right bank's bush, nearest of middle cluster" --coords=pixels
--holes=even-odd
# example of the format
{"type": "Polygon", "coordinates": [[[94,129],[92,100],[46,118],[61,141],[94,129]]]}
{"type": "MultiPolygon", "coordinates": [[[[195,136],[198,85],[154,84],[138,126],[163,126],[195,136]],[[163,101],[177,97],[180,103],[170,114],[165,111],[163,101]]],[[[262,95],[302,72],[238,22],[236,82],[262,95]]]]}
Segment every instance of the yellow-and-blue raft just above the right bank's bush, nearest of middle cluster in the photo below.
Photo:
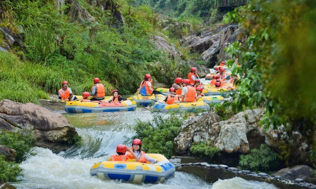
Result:
{"type": "Polygon", "coordinates": [[[182,102],[177,104],[164,104],[157,102],[152,107],[153,111],[156,112],[170,112],[170,111],[186,111],[186,112],[194,112],[196,110],[205,110],[208,111],[210,106],[203,102],[182,102]]]}

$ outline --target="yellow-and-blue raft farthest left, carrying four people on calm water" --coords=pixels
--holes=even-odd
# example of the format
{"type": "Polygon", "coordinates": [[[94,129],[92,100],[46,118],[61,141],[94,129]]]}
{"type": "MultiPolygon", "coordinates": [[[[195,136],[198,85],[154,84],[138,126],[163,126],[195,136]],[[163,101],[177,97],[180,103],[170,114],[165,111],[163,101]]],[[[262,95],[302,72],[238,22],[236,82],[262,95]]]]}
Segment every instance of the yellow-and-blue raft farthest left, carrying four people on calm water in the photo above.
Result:
{"type": "Polygon", "coordinates": [[[137,104],[133,100],[122,102],[90,101],[82,102],[69,101],[65,105],[65,111],[69,113],[91,113],[91,112],[117,112],[117,111],[134,111],[137,104]]]}

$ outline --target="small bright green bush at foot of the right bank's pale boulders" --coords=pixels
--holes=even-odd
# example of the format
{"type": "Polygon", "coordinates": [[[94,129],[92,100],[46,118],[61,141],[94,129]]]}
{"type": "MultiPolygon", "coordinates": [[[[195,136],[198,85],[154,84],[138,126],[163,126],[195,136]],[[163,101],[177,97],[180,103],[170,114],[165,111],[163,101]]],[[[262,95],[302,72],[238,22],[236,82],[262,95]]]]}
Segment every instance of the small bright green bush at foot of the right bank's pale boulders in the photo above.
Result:
{"type": "Polygon", "coordinates": [[[215,155],[218,155],[220,153],[220,149],[219,148],[215,148],[212,147],[210,144],[212,144],[212,142],[210,141],[209,143],[206,142],[200,142],[200,143],[193,143],[190,147],[190,151],[197,155],[198,157],[208,157],[208,158],[212,158],[215,155]]]}

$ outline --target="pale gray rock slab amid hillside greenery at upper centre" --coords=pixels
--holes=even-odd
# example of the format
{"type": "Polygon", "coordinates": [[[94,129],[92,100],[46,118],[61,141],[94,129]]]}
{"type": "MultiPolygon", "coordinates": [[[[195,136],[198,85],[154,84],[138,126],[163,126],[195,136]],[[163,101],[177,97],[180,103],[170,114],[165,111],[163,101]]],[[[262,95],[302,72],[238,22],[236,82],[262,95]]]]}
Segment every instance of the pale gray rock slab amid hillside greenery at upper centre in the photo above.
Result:
{"type": "Polygon", "coordinates": [[[170,45],[167,40],[160,35],[152,36],[149,39],[149,42],[155,44],[155,48],[157,50],[167,52],[167,54],[169,54],[173,59],[181,59],[181,52],[175,48],[174,44],[170,45]]]}

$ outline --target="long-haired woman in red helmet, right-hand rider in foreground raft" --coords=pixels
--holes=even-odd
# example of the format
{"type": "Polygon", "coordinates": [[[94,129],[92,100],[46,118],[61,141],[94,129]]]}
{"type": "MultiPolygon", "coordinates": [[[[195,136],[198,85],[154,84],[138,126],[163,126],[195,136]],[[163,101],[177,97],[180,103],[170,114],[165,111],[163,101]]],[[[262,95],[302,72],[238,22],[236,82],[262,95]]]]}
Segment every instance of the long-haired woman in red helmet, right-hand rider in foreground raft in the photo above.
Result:
{"type": "Polygon", "coordinates": [[[136,155],[137,161],[141,163],[148,163],[148,162],[157,163],[158,162],[156,159],[147,156],[146,153],[141,150],[141,148],[142,148],[142,141],[140,139],[134,139],[132,142],[132,147],[130,148],[131,151],[126,152],[125,155],[129,158],[133,158],[134,156],[132,155],[133,153],[136,155]]]}

